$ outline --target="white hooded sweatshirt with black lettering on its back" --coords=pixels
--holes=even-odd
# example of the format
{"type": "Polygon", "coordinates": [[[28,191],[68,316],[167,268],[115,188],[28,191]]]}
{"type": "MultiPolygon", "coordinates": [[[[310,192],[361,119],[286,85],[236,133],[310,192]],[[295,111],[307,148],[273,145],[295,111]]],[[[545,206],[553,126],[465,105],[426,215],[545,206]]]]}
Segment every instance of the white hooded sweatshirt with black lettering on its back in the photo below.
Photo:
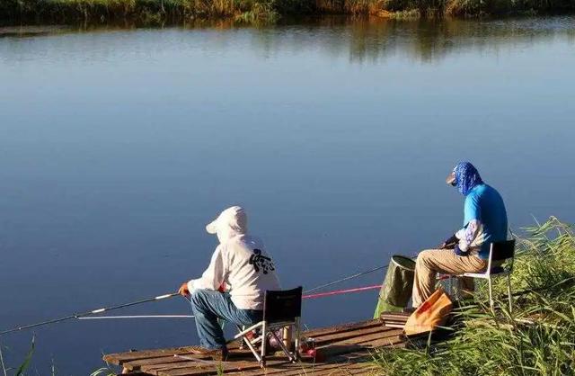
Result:
{"type": "Polygon", "coordinates": [[[263,309],[267,290],[279,290],[275,265],[257,237],[247,234],[247,216],[239,206],[228,208],[206,226],[219,245],[201,278],[188,289],[217,290],[223,283],[238,309],[263,309]]]}

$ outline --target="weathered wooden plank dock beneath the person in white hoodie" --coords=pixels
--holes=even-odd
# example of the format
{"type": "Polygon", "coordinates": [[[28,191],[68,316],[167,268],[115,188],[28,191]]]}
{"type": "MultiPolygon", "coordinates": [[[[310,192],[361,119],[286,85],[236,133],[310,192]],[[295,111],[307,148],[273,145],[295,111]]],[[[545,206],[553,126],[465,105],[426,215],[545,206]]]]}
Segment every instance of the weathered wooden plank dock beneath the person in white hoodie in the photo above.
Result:
{"type": "Polygon", "coordinates": [[[378,319],[306,331],[302,336],[315,340],[314,357],[289,363],[285,356],[272,356],[265,369],[260,368],[249,350],[238,348],[239,342],[229,346],[226,362],[191,354],[187,347],[107,354],[103,359],[133,376],[369,375],[376,374],[371,363],[376,348],[404,345],[401,327],[407,317],[403,313],[384,314],[378,319]]]}

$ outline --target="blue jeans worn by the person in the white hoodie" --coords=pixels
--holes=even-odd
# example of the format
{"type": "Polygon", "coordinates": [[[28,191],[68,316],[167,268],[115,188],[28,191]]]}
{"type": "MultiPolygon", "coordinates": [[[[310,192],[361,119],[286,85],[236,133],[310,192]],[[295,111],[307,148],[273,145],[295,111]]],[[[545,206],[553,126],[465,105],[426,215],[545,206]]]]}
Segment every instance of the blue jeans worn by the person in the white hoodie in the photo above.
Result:
{"type": "Polygon", "coordinates": [[[227,292],[198,289],[191,292],[191,309],[196,317],[199,345],[210,350],[226,348],[224,331],[217,319],[237,325],[251,326],[261,321],[263,312],[238,309],[227,292]]]}

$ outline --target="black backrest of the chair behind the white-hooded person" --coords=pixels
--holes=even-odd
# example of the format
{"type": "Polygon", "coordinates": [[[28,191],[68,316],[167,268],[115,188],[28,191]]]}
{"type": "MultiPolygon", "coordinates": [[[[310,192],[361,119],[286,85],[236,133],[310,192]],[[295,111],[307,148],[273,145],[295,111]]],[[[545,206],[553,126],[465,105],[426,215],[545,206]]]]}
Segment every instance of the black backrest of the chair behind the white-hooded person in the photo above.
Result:
{"type": "Polygon", "coordinates": [[[270,323],[294,321],[302,316],[302,287],[293,290],[266,291],[263,319],[270,323]]]}

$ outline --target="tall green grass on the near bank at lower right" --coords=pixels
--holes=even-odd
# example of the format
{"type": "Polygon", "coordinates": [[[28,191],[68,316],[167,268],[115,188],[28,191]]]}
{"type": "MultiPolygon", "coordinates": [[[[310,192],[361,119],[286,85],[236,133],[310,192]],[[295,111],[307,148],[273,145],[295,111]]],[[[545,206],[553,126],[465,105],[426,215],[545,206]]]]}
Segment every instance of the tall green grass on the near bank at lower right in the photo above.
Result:
{"type": "MultiPolygon", "coordinates": [[[[520,239],[512,283],[520,294],[512,313],[481,304],[464,309],[453,339],[424,349],[376,354],[388,375],[575,374],[575,237],[557,219],[520,239]]],[[[505,295],[505,286],[497,286],[505,295]]],[[[485,291],[478,291],[485,301],[485,291]]]]}

